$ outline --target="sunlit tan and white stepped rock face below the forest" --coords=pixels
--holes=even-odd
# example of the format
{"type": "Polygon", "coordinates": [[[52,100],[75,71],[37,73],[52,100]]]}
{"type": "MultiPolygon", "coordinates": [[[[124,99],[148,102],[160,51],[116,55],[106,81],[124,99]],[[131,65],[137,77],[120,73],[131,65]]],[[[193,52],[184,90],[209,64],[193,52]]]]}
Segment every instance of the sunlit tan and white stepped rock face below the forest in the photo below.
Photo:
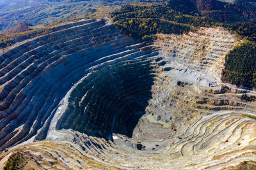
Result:
{"type": "Polygon", "coordinates": [[[188,35],[162,35],[156,41],[166,60],[180,69],[189,69],[200,74],[211,74],[220,81],[226,53],[237,44],[234,35],[223,29],[200,28],[188,35]]]}

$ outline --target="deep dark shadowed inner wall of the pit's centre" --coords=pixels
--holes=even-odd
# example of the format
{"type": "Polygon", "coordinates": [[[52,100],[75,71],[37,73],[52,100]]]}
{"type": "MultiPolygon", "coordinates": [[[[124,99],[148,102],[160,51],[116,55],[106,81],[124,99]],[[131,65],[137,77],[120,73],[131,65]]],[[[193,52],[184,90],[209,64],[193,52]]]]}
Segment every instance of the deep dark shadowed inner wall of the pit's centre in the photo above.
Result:
{"type": "Polygon", "coordinates": [[[146,59],[93,72],[72,91],[57,129],[106,139],[115,132],[131,138],[152,99],[155,76],[154,66],[146,59]]]}

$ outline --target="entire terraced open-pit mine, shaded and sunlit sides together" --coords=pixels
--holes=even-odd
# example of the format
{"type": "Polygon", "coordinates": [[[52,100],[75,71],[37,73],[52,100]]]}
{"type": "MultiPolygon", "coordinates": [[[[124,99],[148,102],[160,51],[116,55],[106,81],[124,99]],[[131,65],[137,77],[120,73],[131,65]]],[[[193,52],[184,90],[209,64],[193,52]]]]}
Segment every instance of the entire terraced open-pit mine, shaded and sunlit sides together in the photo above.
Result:
{"type": "Polygon", "coordinates": [[[1,150],[31,143],[13,151],[42,152],[42,167],[58,158],[61,169],[255,161],[256,122],[242,116],[255,116],[255,104],[220,81],[234,35],[202,28],[147,44],[102,21],[79,23],[1,55],[1,150]]]}

